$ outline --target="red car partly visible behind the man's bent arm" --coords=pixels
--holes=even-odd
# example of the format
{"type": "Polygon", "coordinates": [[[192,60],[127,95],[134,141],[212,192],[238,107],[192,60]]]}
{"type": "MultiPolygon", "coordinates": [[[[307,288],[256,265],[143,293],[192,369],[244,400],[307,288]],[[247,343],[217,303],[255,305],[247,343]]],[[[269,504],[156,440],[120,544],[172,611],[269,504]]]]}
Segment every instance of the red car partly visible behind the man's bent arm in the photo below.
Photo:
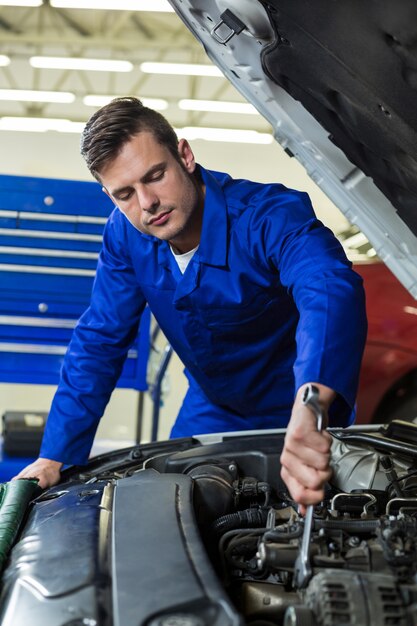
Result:
{"type": "Polygon", "coordinates": [[[417,302],[356,228],[339,238],[366,291],[369,327],[356,422],[417,422],[417,302]]]}

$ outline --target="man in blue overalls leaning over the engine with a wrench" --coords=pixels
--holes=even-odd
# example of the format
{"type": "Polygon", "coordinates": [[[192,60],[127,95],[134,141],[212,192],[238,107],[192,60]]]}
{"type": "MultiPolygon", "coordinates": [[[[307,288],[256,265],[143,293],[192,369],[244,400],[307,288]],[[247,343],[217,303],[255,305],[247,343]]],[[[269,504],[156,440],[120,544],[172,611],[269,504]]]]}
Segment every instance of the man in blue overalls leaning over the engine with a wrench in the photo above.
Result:
{"type": "Polygon", "coordinates": [[[301,510],[320,501],[330,436],[302,393],[314,383],[329,423],[352,422],[366,317],[361,278],[307,194],[204,169],[133,97],[92,115],[81,153],[116,207],[40,458],[18,477],[45,488],[86,463],[149,304],[189,380],[171,436],[288,425],[282,478],[301,510]]]}

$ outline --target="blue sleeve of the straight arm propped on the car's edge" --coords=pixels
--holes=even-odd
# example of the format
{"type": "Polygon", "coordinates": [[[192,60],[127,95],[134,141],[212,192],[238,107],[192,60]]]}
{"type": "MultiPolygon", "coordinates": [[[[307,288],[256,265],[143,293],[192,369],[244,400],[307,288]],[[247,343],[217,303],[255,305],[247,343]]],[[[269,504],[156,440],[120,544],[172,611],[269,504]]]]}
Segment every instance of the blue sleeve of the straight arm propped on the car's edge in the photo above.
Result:
{"type": "Polygon", "coordinates": [[[68,346],[42,441],[40,456],[65,464],[86,463],[146,304],[117,217],[106,224],[90,306],[68,346]]]}

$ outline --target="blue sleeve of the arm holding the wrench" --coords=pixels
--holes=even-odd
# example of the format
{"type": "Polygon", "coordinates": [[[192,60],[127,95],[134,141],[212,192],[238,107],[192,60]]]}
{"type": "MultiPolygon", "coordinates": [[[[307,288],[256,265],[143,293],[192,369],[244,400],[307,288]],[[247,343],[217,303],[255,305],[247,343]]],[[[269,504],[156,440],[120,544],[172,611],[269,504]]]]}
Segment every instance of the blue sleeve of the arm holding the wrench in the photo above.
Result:
{"type": "Polygon", "coordinates": [[[260,223],[262,255],[299,313],[295,390],[313,381],[332,388],[338,397],[330,423],[346,425],[354,415],[367,333],[362,278],[316,219],[307,194],[288,191],[278,208],[264,208],[260,223]]]}

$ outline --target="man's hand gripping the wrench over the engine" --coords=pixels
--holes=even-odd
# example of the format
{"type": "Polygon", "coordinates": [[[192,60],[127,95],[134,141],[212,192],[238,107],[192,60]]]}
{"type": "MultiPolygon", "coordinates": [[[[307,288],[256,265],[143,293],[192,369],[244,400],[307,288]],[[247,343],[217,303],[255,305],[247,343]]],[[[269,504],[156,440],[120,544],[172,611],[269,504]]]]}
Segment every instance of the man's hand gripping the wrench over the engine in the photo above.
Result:
{"type": "Polygon", "coordinates": [[[317,418],[311,408],[303,404],[306,385],[300,387],[294,402],[291,419],[281,454],[281,477],[292,498],[305,513],[309,504],[317,504],[324,498],[324,485],[331,477],[331,436],[326,432],[327,410],[336,393],[318,383],[320,403],[323,408],[323,430],[317,430],[317,418]]]}

